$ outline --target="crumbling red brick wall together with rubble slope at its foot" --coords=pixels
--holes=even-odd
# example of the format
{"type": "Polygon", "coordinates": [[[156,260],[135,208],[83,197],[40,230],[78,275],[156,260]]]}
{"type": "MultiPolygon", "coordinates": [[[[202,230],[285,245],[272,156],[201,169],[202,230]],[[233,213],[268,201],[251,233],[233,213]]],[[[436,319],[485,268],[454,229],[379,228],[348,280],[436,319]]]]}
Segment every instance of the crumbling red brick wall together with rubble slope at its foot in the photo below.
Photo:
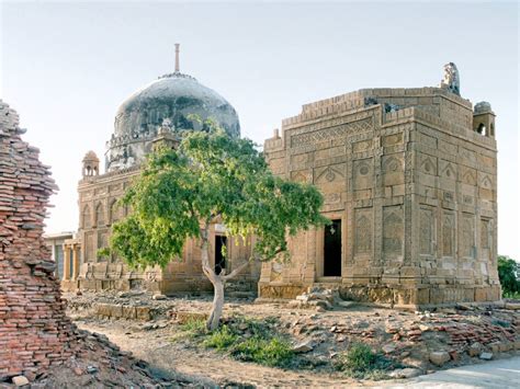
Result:
{"type": "Polygon", "coordinates": [[[0,388],[161,385],[145,363],[103,335],[79,331],[66,316],[43,240],[57,186],[38,149],[21,139],[24,131],[0,100],[0,388]]]}

